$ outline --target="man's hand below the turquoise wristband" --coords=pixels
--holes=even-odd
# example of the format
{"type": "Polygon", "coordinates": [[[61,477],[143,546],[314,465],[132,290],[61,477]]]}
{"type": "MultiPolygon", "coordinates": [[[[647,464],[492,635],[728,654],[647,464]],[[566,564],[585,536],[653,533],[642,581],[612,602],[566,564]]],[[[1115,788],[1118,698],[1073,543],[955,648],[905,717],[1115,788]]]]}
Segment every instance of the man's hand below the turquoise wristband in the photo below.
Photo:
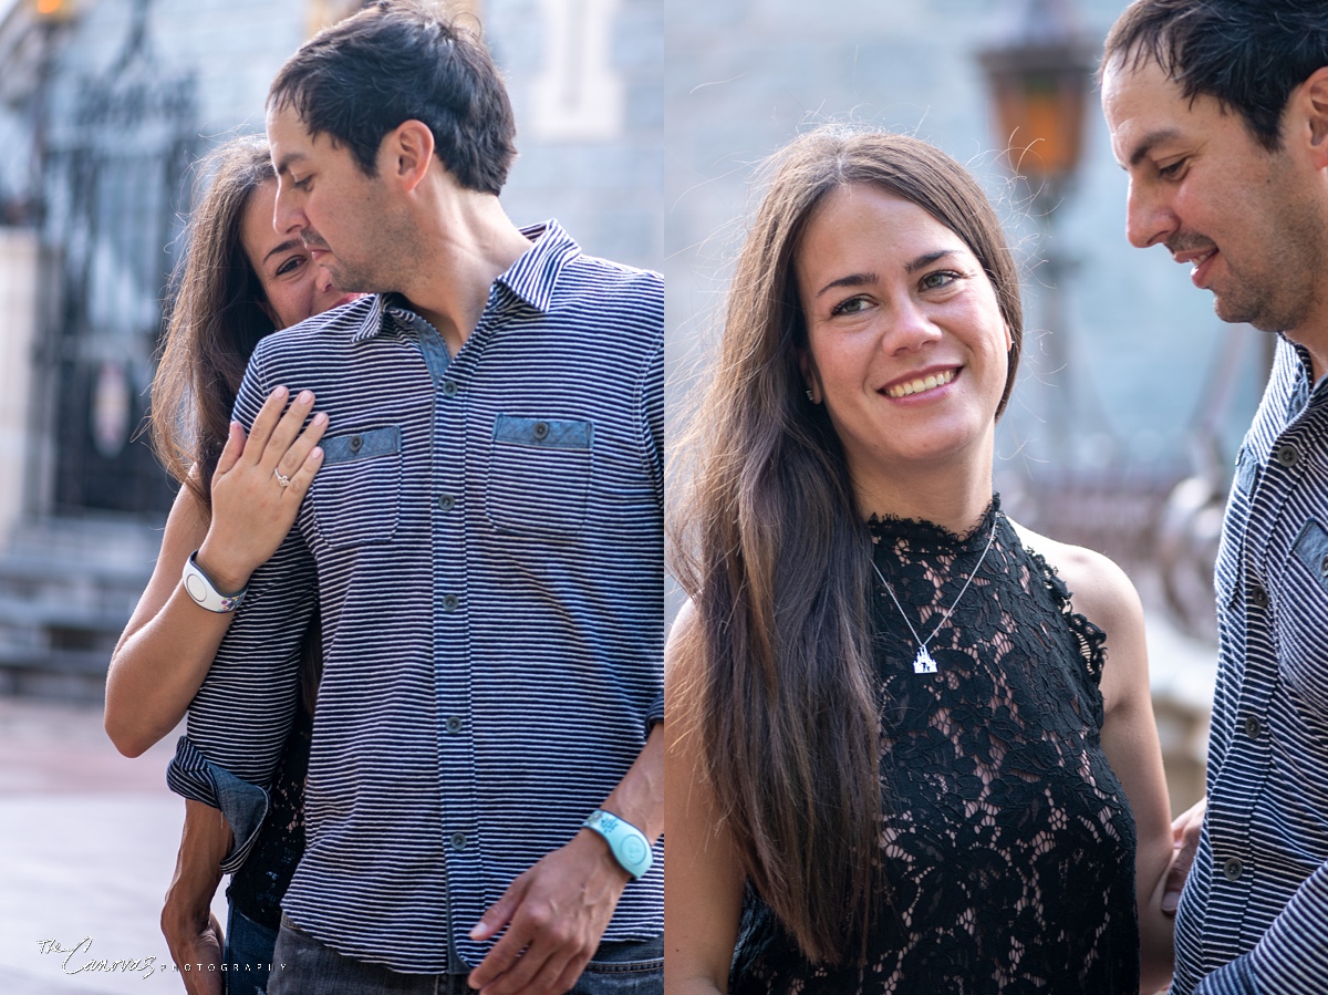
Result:
{"type": "Polygon", "coordinates": [[[511,882],[470,931],[507,933],[470,972],[483,995],[562,995],[599,947],[629,875],[604,840],[582,829],[511,882]],[[525,951],[525,952],[522,952],[525,951]]]}

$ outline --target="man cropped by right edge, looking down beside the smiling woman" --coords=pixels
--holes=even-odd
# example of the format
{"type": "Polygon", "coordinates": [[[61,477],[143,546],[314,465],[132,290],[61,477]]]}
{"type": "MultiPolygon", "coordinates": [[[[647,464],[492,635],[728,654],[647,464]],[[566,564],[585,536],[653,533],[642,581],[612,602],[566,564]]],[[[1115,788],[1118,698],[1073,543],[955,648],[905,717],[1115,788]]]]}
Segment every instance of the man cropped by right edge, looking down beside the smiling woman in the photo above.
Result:
{"type": "Polygon", "coordinates": [[[1325,992],[1328,4],[1137,0],[1102,84],[1130,242],[1190,264],[1223,320],[1279,335],[1218,557],[1207,806],[1175,825],[1193,866],[1171,991],[1325,992]]]}

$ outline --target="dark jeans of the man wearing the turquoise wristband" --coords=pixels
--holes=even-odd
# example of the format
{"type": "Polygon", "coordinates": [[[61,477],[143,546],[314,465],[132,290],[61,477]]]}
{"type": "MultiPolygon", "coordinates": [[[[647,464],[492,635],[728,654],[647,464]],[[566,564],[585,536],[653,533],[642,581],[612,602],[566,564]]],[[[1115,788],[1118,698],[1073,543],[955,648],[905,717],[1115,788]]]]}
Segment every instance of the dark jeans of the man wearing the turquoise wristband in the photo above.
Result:
{"type": "MultiPolygon", "coordinates": [[[[463,974],[400,974],[325,947],[282,917],[268,995],[470,995],[463,974]]],[[[664,938],[600,943],[571,995],[663,995],[664,938]]]]}

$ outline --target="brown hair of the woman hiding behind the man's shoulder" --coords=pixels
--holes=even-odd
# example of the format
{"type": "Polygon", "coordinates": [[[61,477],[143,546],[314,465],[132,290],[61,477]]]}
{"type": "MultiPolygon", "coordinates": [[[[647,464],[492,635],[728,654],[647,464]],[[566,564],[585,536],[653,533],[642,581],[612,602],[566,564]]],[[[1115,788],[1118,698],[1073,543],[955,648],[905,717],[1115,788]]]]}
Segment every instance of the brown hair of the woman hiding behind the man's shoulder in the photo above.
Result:
{"type": "Polygon", "coordinates": [[[199,163],[198,206],[171,278],[166,343],[151,392],[153,450],[166,470],[212,505],[216,460],[226,445],[235,393],[259,339],[275,329],[267,298],[244,254],[244,209],[276,182],[263,138],[227,142],[199,163]]]}

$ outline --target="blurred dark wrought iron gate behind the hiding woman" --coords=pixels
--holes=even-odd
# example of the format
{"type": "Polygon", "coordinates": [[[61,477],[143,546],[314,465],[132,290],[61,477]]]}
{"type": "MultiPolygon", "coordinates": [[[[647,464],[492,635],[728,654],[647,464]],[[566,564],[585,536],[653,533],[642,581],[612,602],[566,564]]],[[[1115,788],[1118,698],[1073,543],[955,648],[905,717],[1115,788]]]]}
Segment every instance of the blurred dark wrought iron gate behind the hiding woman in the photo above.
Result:
{"type": "Polygon", "coordinates": [[[120,57],[76,81],[73,126],[53,129],[46,151],[57,272],[45,365],[60,514],[158,513],[173,493],[139,429],[201,145],[197,78],[161,65],[150,0],[133,4],[120,57]]]}

